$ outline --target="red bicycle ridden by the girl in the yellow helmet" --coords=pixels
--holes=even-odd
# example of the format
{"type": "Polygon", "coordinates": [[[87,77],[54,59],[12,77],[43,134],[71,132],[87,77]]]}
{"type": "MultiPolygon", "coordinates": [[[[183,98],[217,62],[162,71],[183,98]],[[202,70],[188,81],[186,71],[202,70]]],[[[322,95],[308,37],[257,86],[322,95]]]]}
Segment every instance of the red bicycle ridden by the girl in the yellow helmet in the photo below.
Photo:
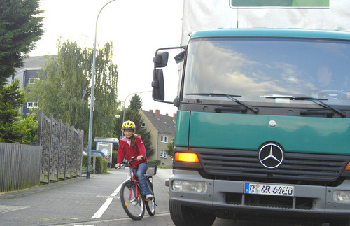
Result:
{"type": "MultiPolygon", "coordinates": [[[[133,220],[141,220],[145,214],[145,206],[147,212],[150,216],[155,215],[155,197],[151,199],[146,199],[146,197],[141,193],[139,187],[139,180],[134,174],[134,168],[132,167],[131,162],[137,161],[135,157],[132,157],[132,160],[122,162],[120,167],[128,165],[130,167],[130,178],[125,181],[120,189],[120,201],[122,202],[123,209],[127,216],[133,220]]],[[[118,167],[117,169],[120,169],[118,167]]],[[[153,192],[153,175],[157,173],[157,164],[154,167],[148,167],[146,171],[146,181],[148,188],[150,188],[152,195],[153,192]]]]}

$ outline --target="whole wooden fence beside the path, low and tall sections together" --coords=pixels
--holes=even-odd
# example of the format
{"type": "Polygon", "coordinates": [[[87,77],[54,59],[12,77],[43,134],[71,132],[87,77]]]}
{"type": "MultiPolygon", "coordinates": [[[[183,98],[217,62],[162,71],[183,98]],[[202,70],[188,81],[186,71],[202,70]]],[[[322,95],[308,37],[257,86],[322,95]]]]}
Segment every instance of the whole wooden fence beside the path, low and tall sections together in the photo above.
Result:
{"type": "Polygon", "coordinates": [[[37,146],[0,143],[0,193],[81,176],[83,137],[39,111],[37,146]]]}

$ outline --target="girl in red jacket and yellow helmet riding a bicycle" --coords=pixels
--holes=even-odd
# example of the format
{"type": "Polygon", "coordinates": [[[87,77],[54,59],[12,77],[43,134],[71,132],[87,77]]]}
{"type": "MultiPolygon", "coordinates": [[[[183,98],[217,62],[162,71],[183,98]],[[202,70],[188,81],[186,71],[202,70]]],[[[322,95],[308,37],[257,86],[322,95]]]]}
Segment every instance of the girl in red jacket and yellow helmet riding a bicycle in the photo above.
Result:
{"type": "Polygon", "coordinates": [[[134,167],[134,172],[139,179],[142,194],[146,196],[146,199],[151,199],[153,198],[153,195],[148,188],[145,178],[145,173],[148,169],[148,162],[144,142],[142,142],[140,136],[135,134],[136,125],[134,122],[125,121],[122,129],[125,137],[120,139],[119,142],[118,163],[116,164],[116,168],[120,167],[120,164],[124,160],[124,155],[126,155],[127,160],[132,160],[132,157],[137,156],[137,160],[139,161],[132,162],[132,167],[134,167]]]}

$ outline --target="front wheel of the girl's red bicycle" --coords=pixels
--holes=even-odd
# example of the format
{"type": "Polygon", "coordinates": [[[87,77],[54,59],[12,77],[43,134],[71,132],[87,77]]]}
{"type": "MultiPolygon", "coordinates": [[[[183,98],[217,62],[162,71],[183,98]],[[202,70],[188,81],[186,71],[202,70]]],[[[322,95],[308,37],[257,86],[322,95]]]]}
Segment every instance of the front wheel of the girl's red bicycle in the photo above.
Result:
{"type": "Polygon", "coordinates": [[[144,199],[139,194],[136,196],[134,183],[126,181],[120,189],[120,201],[127,216],[133,220],[141,220],[145,214],[144,199]]]}

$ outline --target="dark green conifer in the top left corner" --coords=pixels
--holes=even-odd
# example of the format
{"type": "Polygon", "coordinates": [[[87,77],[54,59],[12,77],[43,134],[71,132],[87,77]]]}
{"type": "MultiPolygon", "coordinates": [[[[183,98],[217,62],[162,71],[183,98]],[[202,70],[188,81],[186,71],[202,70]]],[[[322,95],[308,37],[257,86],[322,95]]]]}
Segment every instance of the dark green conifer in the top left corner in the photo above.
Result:
{"type": "Polygon", "coordinates": [[[43,34],[39,0],[0,1],[0,90],[43,34]]]}

